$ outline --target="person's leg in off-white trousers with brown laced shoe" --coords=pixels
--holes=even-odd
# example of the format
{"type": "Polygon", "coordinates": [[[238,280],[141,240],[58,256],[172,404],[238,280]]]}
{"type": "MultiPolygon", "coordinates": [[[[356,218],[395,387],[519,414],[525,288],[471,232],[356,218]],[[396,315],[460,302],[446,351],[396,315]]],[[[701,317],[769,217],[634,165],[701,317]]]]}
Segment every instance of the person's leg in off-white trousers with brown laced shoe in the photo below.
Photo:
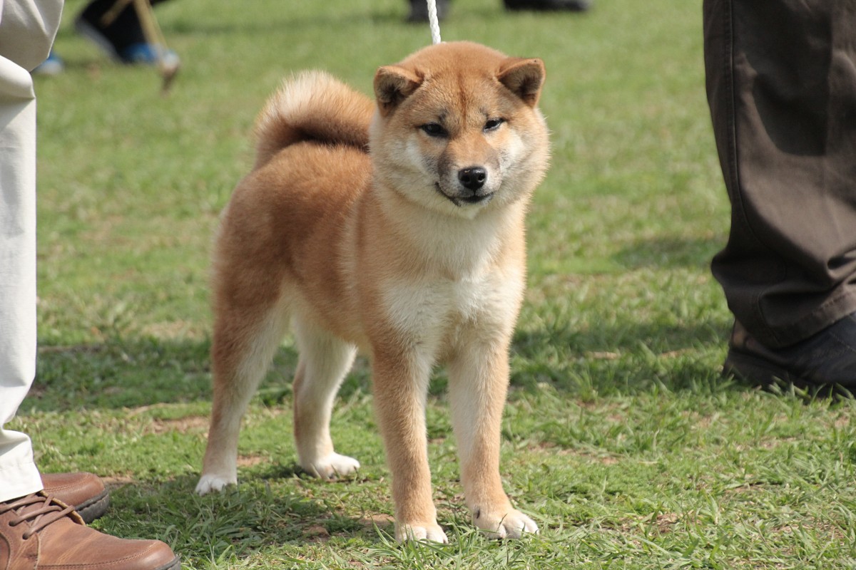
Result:
{"type": "MultiPolygon", "coordinates": [[[[179,570],[167,544],[86,527],[43,490],[29,438],[3,428],[35,377],[36,101],[27,69],[47,56],[61,11],[61,2],[0,0],[0,559],[13,568],[179,570]]],[[[72,479],[55,482],[88,499],[72,479]]]]}

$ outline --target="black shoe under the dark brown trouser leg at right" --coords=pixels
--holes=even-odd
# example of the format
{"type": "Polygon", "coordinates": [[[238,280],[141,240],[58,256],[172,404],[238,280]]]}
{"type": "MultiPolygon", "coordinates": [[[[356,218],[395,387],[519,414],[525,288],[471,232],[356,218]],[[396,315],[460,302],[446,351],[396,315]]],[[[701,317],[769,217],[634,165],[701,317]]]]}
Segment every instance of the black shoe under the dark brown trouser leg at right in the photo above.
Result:
{"type": "Polygon", "coordinates": [[[780,381],[798,387],[856,391],[856,313],[811,338],[783,349],[768,349],[734,322],[722,372],[759,385],[780,381]]]}

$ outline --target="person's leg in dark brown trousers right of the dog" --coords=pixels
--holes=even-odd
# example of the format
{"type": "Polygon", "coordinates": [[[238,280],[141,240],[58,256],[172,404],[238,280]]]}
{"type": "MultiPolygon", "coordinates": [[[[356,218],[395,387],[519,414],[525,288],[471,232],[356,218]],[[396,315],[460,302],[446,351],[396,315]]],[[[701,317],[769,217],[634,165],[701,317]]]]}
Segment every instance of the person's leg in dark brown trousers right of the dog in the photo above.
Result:
{"type": "MultiPolygon", "coordinates": [[[[817,335],[835,325],[832,350],[847,356],[856,336],[856,7],[705,0],[704,62],[732,204],[728,244],[712,263],[738,323],[732,348],[780,360],[771,351],[813,343],[803,360],[828,358],[817,335]]],[[[834,381],[856,381],[850,358],[835,364],[834,381]]]]}

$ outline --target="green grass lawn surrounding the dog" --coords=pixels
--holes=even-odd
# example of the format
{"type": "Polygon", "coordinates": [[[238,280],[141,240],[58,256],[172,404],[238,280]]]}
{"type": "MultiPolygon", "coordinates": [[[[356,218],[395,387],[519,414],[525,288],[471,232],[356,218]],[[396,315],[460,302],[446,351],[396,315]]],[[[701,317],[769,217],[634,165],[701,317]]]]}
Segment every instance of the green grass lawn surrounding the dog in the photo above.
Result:
{"type": "Polygon", "coordinates": [[[162,538],[186,568],[852,568],[852,402],[720,378],[730,316],[710,277],[728,232],[704,101],[701,6],[598,0],[509,15],[456,0],[443,38],[539,56],[550,173],[529,218],[502,474],[542,532],[471,530],[437,371],[428,410],[450,544],[390,538],[389,471],[358,361],[333,432],[360,459],[321,483],[295,465],[287,339],[241,432],[241,485],[196,497],[210,408],[211,234],[253,161],[283,76],[323,68],[371,92],[430,43],[404,0],[175,0],[158,20],[183,67],[108,61],[68,0],[39,78],[39,367],[12,427],[45,471],[113,486],[98,528],[162,538]]]}

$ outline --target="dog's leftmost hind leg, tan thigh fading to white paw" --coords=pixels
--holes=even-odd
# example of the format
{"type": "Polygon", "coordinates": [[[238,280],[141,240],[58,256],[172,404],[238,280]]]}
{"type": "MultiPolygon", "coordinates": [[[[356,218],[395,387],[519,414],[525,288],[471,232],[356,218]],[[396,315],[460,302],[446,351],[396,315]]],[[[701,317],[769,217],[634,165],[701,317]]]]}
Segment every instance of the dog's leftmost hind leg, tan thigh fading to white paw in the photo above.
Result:
{"type": "Polygon", "coordinates": [[[218,315],[211,345],[211,426],[202,477],[196,485],[200,495],[237,483],[241,417],[287,326],[287,314],[276,307],[231,308],[218,315]]]}

